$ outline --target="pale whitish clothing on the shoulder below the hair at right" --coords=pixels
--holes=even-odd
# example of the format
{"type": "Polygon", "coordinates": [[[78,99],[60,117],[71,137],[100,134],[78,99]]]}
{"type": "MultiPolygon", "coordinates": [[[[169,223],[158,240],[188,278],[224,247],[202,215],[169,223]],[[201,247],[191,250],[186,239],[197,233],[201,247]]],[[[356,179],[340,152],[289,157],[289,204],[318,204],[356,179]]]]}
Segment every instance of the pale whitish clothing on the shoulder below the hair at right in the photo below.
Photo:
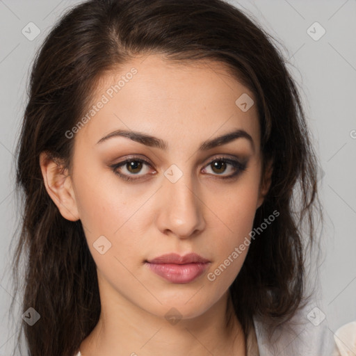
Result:
{"type": "Polygon", "coordinates": [[[308,303],[285,325],[279,327],[273,339],[268,339],[268,323],[254,317],[260,356],[339,356],[334,333],[322,310],[308,303]]]}

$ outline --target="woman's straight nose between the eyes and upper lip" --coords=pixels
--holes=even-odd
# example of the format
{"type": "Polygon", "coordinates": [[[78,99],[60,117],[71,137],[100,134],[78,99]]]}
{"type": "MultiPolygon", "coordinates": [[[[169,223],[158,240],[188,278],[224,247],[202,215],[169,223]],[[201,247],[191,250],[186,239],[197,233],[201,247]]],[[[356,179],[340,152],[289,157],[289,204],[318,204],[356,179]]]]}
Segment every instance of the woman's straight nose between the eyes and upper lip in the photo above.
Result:
{"type": "Polygon", "coordinates": [[[163,234],[189,238],[204,229],[204,201],[197,190],[197,184],[188,174],[182,175],[175,182],[164,178],[159,190],[159,201],[156,223],[163,234]]]}

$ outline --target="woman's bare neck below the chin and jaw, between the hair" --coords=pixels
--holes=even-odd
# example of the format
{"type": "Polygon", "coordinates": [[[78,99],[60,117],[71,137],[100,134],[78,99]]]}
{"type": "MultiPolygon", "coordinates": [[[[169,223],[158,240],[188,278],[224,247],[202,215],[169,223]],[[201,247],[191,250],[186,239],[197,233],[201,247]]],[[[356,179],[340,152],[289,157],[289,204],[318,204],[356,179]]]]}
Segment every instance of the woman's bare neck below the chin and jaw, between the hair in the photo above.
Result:
{"type": "Polygon", "coordinates": [[[99,322],[81,343],[82,356],[245,355],[245,335],[229,291],[204,314],[176,322],[126,299],[101,296],[101,304],[99,322]]]}

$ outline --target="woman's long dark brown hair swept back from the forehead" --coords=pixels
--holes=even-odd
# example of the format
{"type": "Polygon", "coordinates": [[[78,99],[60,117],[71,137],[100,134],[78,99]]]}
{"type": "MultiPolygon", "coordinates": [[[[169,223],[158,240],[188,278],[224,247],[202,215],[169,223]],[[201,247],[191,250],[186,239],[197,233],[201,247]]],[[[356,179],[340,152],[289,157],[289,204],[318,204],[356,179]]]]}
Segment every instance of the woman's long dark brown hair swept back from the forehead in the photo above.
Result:
{"type": "Polygon", "coordinates": [[[63,218],[49,197],[40,152],[71,167],[74,139],[65,132],[87,111],[100,77],[135,56],[218,61],[253,92],[263,168],[273,159],[272,183],[254,228],[273,211],[280,216],[252,241],[229,291],[245,332],[252,316],[264,318],[273,331],[301,307],[307,299],[306,248],[315,240],[317,159],[296,83],[273,42],[221,0],[86,1],[51,29],[31,70],[16,152],[17,199],[23,208],[14,280],[24,275],[23,312],[33,307],[41,316],[33,326],[22,325],[29,355],[74,355],[101,310],[96,266],[81,221],[63,218]],[[20,271],[22,255],[26,264],[20,271]]]}

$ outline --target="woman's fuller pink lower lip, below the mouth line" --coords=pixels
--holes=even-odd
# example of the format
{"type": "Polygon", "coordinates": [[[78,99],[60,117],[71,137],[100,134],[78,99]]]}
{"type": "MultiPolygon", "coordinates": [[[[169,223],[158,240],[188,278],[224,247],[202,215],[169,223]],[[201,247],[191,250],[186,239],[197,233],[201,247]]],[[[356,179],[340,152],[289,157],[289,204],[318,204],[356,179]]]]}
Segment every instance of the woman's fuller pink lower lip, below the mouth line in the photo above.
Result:
{"type": "Polygon", "coordinates": [[[146,263],[157,275],[172,283],[188,283],[202,275],[209,262],[204,264],[150,264],[146,263]]]}

